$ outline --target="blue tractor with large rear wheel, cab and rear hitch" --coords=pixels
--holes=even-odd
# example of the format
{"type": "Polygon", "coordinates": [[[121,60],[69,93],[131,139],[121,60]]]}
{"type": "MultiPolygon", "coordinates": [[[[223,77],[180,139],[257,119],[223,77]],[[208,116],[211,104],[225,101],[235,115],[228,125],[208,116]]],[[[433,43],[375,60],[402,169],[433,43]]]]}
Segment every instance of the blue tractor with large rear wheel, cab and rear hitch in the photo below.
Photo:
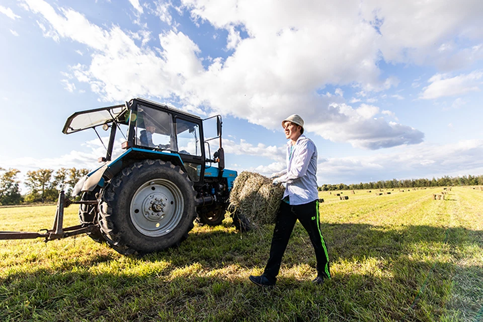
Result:
{"type": "Polygon", "coordinates": [[[121,254],[143,254],[179,245],[194,220],[220,224],[237,175],[224,169],[221,125],[219,115],[203,120],[141,98],[72,114],[65,134],[93,128],[101,139],[98,129],[109,131],[106,155],[99,158],[103,165],[75,185],[72,195],[80,201],[60,193],[52,229],[3,232],[0,239],[88,233],[121,254]],[[203,121],[216,121],[213,137],[204,139],[203,121]],[[122,137],[122,153],[112,160],[116,135],[122,137]],[[210,142],[216,139],[210,158],[210,142]],[[63,207],[71,203],[79,204],[81,224],[63,228],[63,207]]]}

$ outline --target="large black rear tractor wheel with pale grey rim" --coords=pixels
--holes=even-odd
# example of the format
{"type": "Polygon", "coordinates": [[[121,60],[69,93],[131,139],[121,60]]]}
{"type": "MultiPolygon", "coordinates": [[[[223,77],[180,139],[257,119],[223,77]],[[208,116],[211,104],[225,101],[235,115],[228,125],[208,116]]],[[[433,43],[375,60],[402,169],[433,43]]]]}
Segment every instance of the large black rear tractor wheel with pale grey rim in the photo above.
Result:
{"type": "Polygon", "coordinates": [[[148,159],[124,168],[101,198],[101,231],[124,255],[177,246],[194,226],[193,183],[170,162],[148,159]]]}

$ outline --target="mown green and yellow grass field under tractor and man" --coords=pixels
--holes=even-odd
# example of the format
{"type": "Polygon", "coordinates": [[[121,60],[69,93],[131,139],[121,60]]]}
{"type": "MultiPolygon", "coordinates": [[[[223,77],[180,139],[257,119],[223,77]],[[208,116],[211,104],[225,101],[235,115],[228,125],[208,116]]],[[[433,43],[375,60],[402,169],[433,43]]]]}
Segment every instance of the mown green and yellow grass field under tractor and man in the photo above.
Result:
{"type": "MultiPolygon", "coordinates": [[[[483,191],[389,191],[320,192],[333,275],[320,286],[299,223],[268,289],[248,276],[262,273],[273,227],[242,234],[228,217],[140,258],[84,235],[0,241],[0,320],[483,321],[483,191]]],[[[54,212],[2,208],[0,230],[50,228],[54,212]]]]}

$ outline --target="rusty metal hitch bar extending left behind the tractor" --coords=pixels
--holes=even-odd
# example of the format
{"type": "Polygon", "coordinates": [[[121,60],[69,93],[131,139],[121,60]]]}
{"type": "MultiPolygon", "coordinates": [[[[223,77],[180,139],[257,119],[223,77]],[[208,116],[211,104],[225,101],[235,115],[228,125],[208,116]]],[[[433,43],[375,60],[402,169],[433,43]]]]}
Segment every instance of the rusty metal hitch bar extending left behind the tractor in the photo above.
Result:
{"type": "Polygon", "coordinates": [[[62,225],[64,221],[64,208],[68,207],[71,204],[97,204],[97,201],[71,201],[65,198],[64,191],[62,190],[59,193],[59,199],[57,200],[57,210],[55,212],[54,224],[52,226],[52,229],[41,229],[45,232],[0,231],[0,240],[45,238],[45,242],[47,242],[49,240],[60,239],[78,235],[81,233],[94,232],[96,230],[99,230],[97,224],[83,224],[63,228],[62,225]]]}

